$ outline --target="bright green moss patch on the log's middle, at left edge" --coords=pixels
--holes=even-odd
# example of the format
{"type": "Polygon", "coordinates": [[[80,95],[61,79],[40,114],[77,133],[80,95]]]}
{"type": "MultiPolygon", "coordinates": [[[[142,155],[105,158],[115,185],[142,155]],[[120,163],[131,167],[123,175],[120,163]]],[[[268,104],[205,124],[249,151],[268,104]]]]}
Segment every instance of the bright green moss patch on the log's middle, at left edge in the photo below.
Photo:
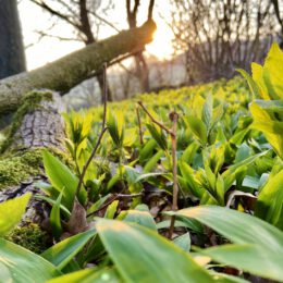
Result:
{"type": "Polygon", "coordinates": [[[41,150],[22,152],[15,156],[5,156],[0,159],[0,189],[17,185],[20,182],[41,172],[41,150]]]}

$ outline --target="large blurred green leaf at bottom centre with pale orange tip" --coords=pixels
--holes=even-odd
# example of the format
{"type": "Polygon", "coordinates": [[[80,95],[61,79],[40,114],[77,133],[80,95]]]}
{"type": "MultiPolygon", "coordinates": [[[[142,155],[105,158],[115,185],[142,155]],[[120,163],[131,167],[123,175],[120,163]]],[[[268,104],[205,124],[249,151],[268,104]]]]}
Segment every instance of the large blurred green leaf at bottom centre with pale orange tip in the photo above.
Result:
{"type": "Polygon", "coordinates": [[[126,282],[212,282],[188,254],[151,230],[111,220],[96,227],[126,282]]]}

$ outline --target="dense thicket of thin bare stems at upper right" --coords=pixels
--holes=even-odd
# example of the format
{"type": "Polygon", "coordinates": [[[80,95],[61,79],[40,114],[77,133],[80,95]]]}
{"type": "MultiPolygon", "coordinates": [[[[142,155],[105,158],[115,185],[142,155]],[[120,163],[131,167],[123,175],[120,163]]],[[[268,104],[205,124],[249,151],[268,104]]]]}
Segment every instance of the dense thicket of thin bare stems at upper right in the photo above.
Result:
{"type": "Polygon", "coordinates": [[[264,0],[171,1],[175,48],[186,53],[189,83],[231,77],[261,61],[274,36],[271,2],[264,0]]]}

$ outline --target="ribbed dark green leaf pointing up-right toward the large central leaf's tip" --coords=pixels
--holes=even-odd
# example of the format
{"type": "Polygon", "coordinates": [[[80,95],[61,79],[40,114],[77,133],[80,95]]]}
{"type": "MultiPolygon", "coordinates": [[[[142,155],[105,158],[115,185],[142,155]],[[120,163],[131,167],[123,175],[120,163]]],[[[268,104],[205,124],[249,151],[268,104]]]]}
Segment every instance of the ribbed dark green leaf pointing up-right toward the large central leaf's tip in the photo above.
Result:
{"type": "Polygon", "coordinates": [[[88,230],[81,234],[59,242],[41,254],[46,260],[50,261],[58,269],[63,269],[74,256],[82,250],[86,243],[96,235],[96,231],[88,230]]]}

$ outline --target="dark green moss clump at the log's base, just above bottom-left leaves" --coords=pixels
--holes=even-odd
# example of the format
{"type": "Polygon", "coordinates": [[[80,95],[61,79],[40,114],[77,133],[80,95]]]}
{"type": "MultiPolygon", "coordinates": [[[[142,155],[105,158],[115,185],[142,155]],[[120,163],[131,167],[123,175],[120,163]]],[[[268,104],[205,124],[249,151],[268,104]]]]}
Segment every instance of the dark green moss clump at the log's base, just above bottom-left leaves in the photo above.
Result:
{"type": "Polygon", "coordinates": [[[35,223],[14,229],[5,238],[36,254],[41,254],[52,245],[50,235],[35,223]]]}

